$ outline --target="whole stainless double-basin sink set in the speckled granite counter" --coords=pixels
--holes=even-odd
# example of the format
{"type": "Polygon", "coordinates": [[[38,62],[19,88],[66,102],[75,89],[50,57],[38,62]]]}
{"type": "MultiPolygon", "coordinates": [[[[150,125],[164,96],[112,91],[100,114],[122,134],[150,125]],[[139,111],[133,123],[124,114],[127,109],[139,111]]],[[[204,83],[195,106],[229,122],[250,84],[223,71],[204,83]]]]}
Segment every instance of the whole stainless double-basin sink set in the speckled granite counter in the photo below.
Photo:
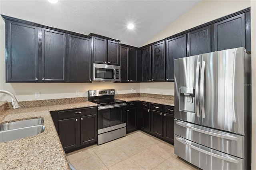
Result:
{"type": "Polygon", "coordinates": [[[0,142],[35,136],[44,132],[44,119],[29,119],[0,125],[0,142]]]}

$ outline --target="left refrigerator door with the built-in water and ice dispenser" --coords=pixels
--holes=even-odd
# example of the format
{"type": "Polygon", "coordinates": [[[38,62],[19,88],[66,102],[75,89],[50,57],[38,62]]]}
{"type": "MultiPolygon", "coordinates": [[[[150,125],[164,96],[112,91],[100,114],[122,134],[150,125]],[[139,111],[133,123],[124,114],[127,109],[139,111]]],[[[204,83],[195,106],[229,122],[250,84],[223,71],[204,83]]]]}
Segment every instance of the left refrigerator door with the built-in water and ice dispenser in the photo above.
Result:
{"type": "Polygon", "coordinates": [[[174,60],[174,117],[196,124],[200,124],[200,56],[174,60]]]}

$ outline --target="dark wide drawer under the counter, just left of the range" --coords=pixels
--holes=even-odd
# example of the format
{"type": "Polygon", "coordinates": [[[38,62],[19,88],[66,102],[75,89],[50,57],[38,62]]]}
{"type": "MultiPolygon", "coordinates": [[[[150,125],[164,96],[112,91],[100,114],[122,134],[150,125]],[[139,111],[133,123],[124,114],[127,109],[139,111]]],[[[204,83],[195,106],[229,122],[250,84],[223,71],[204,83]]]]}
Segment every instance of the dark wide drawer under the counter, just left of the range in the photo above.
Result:
{"type": "Polygon", "coordinates": [[[88,107],[84,109],[72,109],[68,111],[58,111],[58,119],[65,119],[69,117],[78,117],[86,115],[94,115],[97,113],[96,107],[88,107]]]}

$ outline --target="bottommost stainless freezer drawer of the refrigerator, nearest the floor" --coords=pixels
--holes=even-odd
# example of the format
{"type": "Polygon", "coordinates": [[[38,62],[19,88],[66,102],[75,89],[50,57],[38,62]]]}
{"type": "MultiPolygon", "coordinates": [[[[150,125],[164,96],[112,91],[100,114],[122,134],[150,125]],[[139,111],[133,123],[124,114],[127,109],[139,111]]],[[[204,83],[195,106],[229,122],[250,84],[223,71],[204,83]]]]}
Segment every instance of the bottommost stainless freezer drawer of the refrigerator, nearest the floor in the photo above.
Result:
{"type": "Polygon", "coordinates": [[[174,153],[204,170],[242,170],[244,160],[174,135],[174,153]]]}

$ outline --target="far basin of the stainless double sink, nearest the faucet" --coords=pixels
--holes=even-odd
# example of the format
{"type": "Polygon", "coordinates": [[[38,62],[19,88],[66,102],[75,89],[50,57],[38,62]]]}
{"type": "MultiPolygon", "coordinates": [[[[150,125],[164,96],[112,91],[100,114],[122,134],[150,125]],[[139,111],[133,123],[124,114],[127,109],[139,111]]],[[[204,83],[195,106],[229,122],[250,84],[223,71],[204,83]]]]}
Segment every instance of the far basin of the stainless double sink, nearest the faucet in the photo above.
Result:
{"type": "Polygon", "coordinates": [[[44,119],[38,118],[38,119],[28,119],[28,120],[24,120],[24,121],[4,123],[4,124],[0,125],[0,131],[11,130],[11,129],[16,129],[16,128],[31,127],[31,126],[35,126],[35,125],[44,125],[44,119]]]}

